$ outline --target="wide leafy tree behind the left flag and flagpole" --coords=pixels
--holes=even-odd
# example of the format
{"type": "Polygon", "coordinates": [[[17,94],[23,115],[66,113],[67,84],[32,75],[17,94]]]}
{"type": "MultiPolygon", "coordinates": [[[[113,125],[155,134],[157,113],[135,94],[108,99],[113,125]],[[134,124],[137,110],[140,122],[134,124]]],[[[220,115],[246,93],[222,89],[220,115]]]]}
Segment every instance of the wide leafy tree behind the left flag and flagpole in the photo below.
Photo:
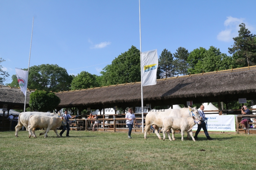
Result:
{"type": "MultiPolygon", "coordinates": [[[[27,70],[27,69],[24,69],[27,70]]],[[[17,86],[16,75],[12,76],[12,86],[17,86]]],[[[45,91],[68,91],[73,76],[68,75],[65,68],[59,67],[57,64],[41,64],[29,68],[28,88],[45,90],[45,91]]]]}

